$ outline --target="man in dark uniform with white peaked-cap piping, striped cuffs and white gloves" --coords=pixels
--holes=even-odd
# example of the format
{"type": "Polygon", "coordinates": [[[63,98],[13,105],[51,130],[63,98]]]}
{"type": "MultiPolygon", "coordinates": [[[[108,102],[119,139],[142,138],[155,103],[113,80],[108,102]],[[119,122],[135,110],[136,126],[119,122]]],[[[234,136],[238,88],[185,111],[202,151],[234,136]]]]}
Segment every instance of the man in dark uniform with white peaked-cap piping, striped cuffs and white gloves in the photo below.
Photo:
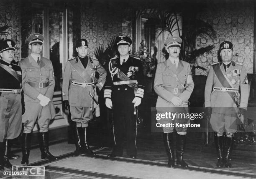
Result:
{"type": "Polygon", "coordinates": [[[127,138],[127,154],[136,158],[136,107],[144,95],[143,72],[140,59],[130,57],[132,40],[127,35],[117,37],[119,57],[110,59],[104,90],[105,104],[113,109],[115,146],[108,157],[123,155],[123,141],[127,138]]]}

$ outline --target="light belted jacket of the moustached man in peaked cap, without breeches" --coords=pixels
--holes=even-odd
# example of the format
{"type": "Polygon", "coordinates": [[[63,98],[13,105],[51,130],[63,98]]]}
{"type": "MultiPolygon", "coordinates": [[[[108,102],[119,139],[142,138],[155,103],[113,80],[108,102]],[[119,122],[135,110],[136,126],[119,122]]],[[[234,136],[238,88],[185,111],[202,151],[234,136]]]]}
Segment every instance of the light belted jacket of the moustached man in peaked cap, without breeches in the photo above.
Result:
{"type": "Polygon", "coordinates": [[[174,96],[187,102],[193,89],[194,82],[189,63],[179,60],[176,68],[171,60],[167,59],[157,65],[154,80],[154,90],[158,94],[156,107],[174,107],[171,102],[174,96]]]}

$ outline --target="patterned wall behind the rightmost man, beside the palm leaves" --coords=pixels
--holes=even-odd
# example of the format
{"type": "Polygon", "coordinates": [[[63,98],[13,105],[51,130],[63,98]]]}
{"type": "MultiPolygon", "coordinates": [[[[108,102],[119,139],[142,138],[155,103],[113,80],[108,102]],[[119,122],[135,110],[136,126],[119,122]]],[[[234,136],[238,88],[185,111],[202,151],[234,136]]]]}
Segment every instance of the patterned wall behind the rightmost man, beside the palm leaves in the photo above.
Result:
{"type": "MultiPolygon", "coordinates": [[[[218,49],[224,40],[234,45],[235,62],[243,63],[248,73],[253,72],[253,20],[254,5],[251,1],[241,0],[236,4],[217,4],[217,10],[208,9],[200,18],[213,25],[217,32],[217,39],[212,41],[205,37],[197,38],[197,47],[214,44],[215,48],[210,55],[202,55],[197,62],[209,70],[210,64],[218,62],[218,49]]],[[[196,75],[207,75],[207,72],[198,70],[196,75]]]]}

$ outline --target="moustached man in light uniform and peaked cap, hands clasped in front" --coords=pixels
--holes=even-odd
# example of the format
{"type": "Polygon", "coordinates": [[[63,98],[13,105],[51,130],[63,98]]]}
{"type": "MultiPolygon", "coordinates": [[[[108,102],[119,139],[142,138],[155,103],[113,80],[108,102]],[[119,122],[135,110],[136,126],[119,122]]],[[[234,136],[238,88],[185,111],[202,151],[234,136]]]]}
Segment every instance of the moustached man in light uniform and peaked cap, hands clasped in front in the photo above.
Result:
{"type": "MultiPolygon", "coordinates": [[[[156,107],[170,107],[169,112],[188,112],[188,99],[194,89],[190,65],[179,59],[182,39],[177,36],[169,37],[164,45],[169,58],[157,65],[154,80],[154,90],[159,95],[156,107]]],[[[175,124],[187,124],[189,119],[161,119],[165,122],[175,124]]],[[[175,127],[175,125],[174,125],[175,127]]],[[[174,127],[163,127],[164,146],[166,149],[168,166],[173,167],[174,158],[174,127]]],[[[183,160],[186,127],[175,127],[177,131],[177,164],[188,167],[183,160]]]]}

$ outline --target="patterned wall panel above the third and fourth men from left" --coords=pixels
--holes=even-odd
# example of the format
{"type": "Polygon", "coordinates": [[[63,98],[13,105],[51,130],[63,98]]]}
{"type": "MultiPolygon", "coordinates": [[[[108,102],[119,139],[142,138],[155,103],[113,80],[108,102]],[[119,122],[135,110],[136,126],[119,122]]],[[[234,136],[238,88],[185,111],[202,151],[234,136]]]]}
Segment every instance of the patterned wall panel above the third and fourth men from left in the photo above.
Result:
{"type": "Polygon", "coordinates": [[[81,1],[81,38],[88,41],[88,53],[91,56],[94,56],[97,47],[105,49],[110,38],[120,33],[131,36],[130,16],[123,14],[111,3],[81,1]]]}

